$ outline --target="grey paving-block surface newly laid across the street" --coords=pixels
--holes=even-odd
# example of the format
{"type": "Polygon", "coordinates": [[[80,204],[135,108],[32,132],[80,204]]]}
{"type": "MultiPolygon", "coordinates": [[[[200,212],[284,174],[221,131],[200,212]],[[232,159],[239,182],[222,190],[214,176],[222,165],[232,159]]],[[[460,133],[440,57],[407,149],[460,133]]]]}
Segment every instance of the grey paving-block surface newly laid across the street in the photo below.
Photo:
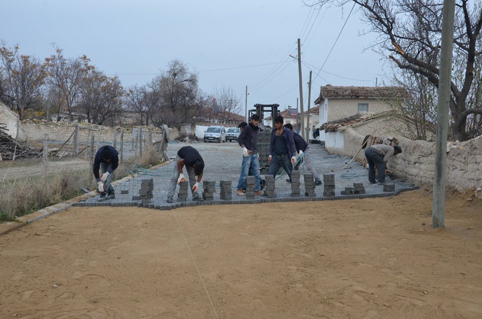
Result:
{"type": "MultiPolygon", "coordinates": [[[[171,159],[174,159],[177,151],[183,146],[193,146],[196,148],[204,159],[205,168],[204,175],[200,182],[199,192],[203,191],[203,181],[214,181],[216,192],[213,200],[192,201],[191,193],[189,192],[187,201],[177,201],[177,193],[179,186],[176,189],[173,203],[167,203],[167,192],[169,179],[173,170],[173,162],[168,165],[157,167],[153,170],[140,170],[137,176],[133,178],[124,178],[117,181],[113,185],[115,189],[115,198],[105,201],[99,201],[99,195],[91,197],[87,200],[74,203],[74,206],[139,206],[155,209],[173,209],[182,206],[194,205],[215,205],[215,204],[244,204],[244,203],[261,203],[261,202],[281,202],[281,201],[317,201],[317,200],[336,200],[336,199],[359,199],[368,197],[388,197],[399,194],[402,191],[414,190],[419,187],[405,181],[403,178],[396,178],[391,180],[387,177],[386,184],[395,186],[394,191],[390,191],[391,185],[370,184],[368,182],[368,171],[362,167],[362,164],[353,161],[347,169],[342,169],[350,160],[348,157],[329,154],[324,148],[318,144],[311,144],[312,162],[314,168],[323,179],[323,174],[334,174],[335,180],[335,195],[323,196],[324,186],[316,186],[315,197],[305,196],[304,183],[304,169],[300,167],[300,190],[299,197],[291,195],[291,184],[286,182],[288,176],[277,175],[276,179],[276,198],[267,198],[265,196],[255,196],[255,199],[248,200],[246,196],[236,195],[236,186],[240,172],[242,161],[242,151],[237,143],[170,143],[168,147],[168,154],[171,159]],[[138,199],[140,196],[141,183],[143,180],[153,180],[153,198],[150,202],[138,199]],[[221,180],[231,181],[232,200],[221,200],[219,194],[219,185],[221,180]],[[364,191],[359,193],[342,195],[342,191],[346,187],[353,187],[353,183],[363,183],[364,191]],[[385,191],[384,191],[385,188],[385,191]],[[389,190],[389,191],[387,191],[389,190]]],[[[187,174],[186,174],[187,176],[187,174]]],[[[262,174],[263,176],[263,174],[262,174]]],[[[307,183],[309,184],[309,182],[307,183]]],[[[329,184],[329,182],[327,183],[329,184]]],[[[359,187],[359,185],[358,185],[359,187]]],[[[361,190],[362,188],[355,188],[361,190]]]]}

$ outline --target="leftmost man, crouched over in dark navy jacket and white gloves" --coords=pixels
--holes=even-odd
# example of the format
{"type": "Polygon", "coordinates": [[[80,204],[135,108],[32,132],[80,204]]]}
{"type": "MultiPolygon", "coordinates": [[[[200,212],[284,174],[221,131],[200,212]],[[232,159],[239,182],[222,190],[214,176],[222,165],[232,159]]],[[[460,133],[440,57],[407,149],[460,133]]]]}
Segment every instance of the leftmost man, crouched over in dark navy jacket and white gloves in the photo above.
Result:
{"type": "Polygon", "coordinates": [[[104,145],[97,150],[92,170],[97,181],[97,189],[100,192],[99,200],[115,198],[114,188],[110,185],[110,182],[112,181],[112,173],[117,166],[119,166],[119,156],[112,146],[104,145]]]}

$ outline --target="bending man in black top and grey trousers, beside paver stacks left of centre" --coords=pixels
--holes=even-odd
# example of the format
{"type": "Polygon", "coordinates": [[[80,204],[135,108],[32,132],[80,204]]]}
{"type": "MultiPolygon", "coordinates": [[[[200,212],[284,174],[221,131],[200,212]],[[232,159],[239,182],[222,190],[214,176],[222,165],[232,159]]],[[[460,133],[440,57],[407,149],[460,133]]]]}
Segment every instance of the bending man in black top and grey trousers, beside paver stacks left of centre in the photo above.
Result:
{"type": "Polygon", "coordinates": [[[169,191],[167,193],[167,202],[173,201],[176,186],[185,181],[182,168],[186,166],[187,175],[189,177],[189,185],[191,186],[192,200],[203,201],[201,195],[197,191],[199,182],[201,181],[204,171],[204,160],[201,154],[192,146],[184,146],[177,151],[176,160],[174,161],[174,169],[172,171],[171,180],[169,182],[169,191]],[[197,175],[197,180],[196,180],[197,175]]]}

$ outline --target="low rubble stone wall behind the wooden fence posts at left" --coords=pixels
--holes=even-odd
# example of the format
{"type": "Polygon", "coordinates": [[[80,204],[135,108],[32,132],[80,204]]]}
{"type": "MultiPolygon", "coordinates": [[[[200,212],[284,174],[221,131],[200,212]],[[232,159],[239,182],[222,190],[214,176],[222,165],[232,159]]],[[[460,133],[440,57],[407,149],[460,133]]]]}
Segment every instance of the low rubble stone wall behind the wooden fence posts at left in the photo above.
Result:
{"type": "MultiPolygon", "coordinates": [[[[72,122],[46,122],[45,120],[25,120],[21,122],[22,133],[20,134],[21,140],[26,141],[41,141],[44,134],[49,135],[51,141],[66,141],[70,135],[74,132],[77,123],[72,122]]],[[[88,123],[79,123],[80,125],[80,142],[90,143],[92,134],[95,137],[95,141],[99,138],[100,142],[111,143],[114,139],[114,132],[116,132],[117,142],[121,139],[120,127],[106,127],[93,125],[88,123]]],[[[153,142],[160,141],[162,139],[162,130],[158,128],[146,127],[146,139],[149,138],[149,132],[152,133],[153,142]]],[[[179,136],[179,131],[176,129],[169,129],[169,139],[173,140],[179,136]]],[[[132,127],[124,128],[124,142],[130,142],[133,140],[132,127]]]]}

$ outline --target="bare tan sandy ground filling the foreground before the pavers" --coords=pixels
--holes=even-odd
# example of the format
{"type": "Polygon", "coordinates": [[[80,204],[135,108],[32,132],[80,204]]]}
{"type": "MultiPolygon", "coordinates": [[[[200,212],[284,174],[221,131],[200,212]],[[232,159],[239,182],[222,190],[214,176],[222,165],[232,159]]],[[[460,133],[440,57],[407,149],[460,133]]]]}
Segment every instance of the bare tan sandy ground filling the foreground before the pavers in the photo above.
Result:
{"type": "Polygon", "coordinates": [[[480,318],[482,201],[76,207],[0,237],[1,318],[480,318]]]}

